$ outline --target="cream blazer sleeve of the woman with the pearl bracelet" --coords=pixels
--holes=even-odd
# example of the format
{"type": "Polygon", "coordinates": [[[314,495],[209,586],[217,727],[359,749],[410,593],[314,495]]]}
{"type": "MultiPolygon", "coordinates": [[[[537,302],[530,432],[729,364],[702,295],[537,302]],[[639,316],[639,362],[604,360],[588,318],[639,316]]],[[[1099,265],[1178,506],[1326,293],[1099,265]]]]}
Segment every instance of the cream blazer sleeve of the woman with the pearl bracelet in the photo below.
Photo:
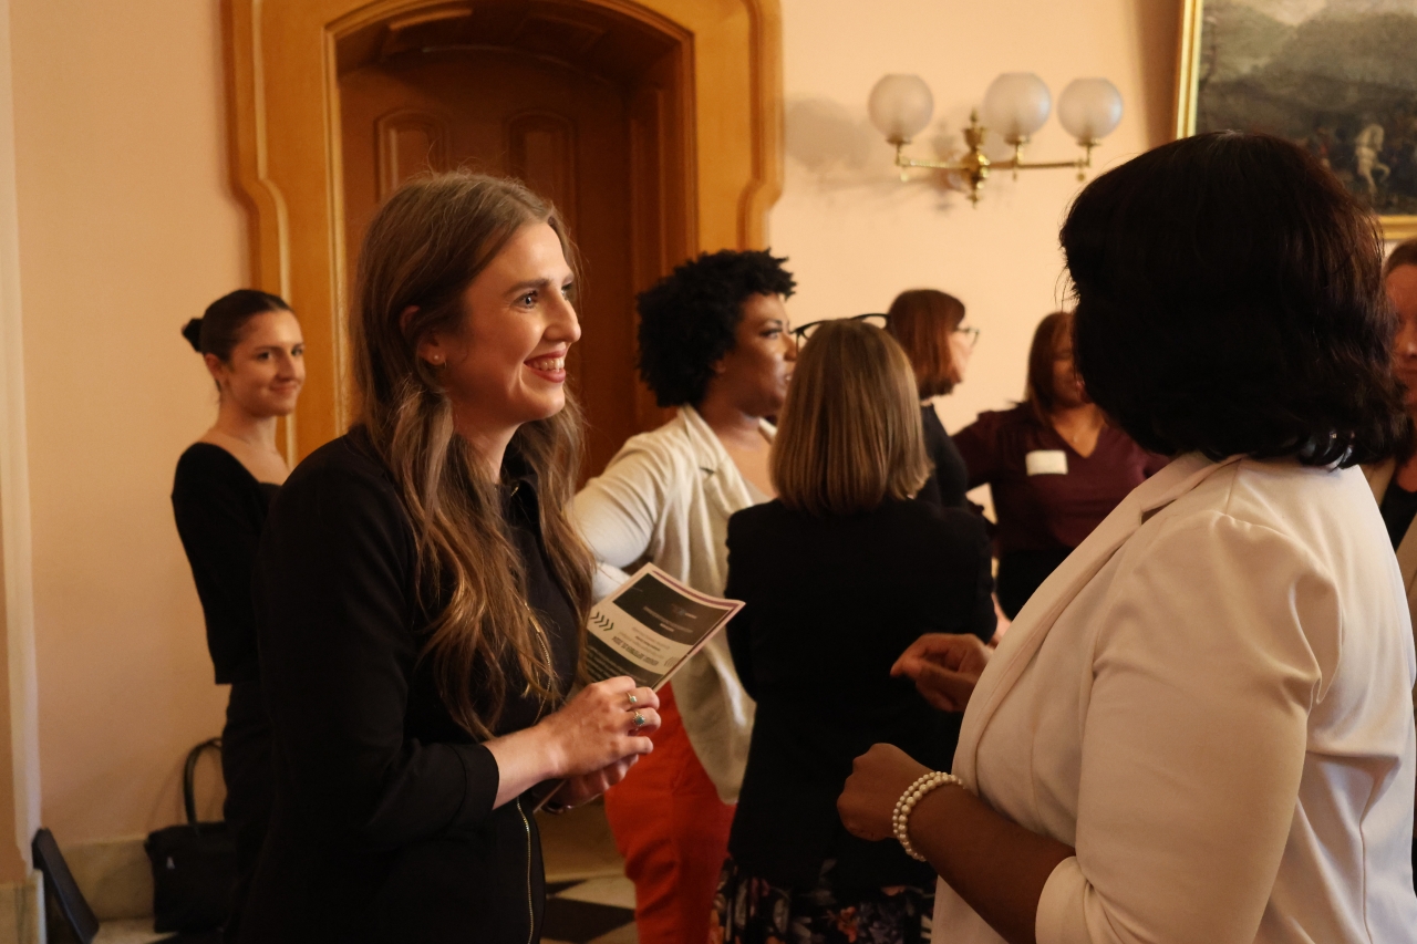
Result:
{"type": "Polygon", "coordinates": [[[1077,856],[1043,889],[1039,944],[1251,944],[1280,869],[1338,595],[1270,529],[1214,512],[1166,529],[1101,614],[1077,856]]]}

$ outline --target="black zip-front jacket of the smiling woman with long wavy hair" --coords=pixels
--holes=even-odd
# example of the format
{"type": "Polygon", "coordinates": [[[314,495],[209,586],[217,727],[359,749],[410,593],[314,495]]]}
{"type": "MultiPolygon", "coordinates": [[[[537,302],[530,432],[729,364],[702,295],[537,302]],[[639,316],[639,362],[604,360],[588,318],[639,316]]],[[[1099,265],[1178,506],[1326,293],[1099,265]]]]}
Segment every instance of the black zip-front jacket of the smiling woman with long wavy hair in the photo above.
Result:
{"type": "MultiPolygon", "coordinates": [[[[534,481],[514,465],[506,522],[567,686],[575,611],[541,546],[534,481]]],[[[497,764],[418,658],[441,605],[419,607],[415,561],[408,515],[363,429],[302,462],[271,509],[254,594],[275,812],[244,943],[540,938],[536,819],[524,798],[492,808],[497,764]]],[[[523,689],[513,668],[497,734],[537,720],[523,689]]]]}

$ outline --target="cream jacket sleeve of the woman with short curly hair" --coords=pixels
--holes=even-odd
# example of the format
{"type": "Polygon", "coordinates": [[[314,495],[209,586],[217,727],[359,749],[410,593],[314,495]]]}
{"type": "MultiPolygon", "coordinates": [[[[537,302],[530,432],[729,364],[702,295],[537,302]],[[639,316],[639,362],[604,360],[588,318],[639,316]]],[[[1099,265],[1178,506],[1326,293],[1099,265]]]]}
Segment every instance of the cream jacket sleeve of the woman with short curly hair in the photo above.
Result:
{"type": "Polygon", "coordinates": [[[597,600],[629,580],[623,568],[653,550],[672,479],[666,458],[632,439],[575,496],[577,526],[599,564],[597,600]]]}

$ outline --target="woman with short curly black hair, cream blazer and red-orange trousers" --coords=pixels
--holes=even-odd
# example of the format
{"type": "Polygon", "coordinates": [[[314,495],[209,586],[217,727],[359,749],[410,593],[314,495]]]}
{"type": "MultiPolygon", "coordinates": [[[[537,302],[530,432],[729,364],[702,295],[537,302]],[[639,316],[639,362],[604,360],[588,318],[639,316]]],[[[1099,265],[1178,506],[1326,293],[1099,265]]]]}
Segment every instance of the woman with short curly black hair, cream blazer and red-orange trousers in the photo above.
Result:
{"type": "MultiPolygon", "coordinates": [[[[629,439],[575,498],[597,595],[636,561],[707,594],[728,577],[728,517],[774,498],[768,449],[796,360],[786,259],[726,249],[639,296],[639,370],[679,415],[629,439]]],[[[660,692],[655,753],[605,795],[635,882],[640,944],[704,940],[748,758],[752,700],[720,636],[660,692]]]]}

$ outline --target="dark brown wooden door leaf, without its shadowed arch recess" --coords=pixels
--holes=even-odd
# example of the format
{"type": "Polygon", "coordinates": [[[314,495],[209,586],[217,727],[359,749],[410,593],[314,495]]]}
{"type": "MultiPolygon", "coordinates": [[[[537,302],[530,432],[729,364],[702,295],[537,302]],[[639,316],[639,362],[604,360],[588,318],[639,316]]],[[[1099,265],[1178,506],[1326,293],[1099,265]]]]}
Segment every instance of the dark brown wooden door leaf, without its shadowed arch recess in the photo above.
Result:
{"type": "Polygon", "coordinates": [[[350,272],[380,200],[418,173],[514,176],[561,211],[584,269],[582,336],[568,369],[589,421],[587,472],[604,468],[645,418],[633,367],[626,101],[622,84],[507,50],[405,52],[340,78],[350,272]]]}

